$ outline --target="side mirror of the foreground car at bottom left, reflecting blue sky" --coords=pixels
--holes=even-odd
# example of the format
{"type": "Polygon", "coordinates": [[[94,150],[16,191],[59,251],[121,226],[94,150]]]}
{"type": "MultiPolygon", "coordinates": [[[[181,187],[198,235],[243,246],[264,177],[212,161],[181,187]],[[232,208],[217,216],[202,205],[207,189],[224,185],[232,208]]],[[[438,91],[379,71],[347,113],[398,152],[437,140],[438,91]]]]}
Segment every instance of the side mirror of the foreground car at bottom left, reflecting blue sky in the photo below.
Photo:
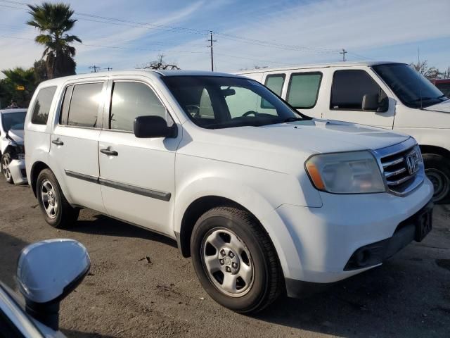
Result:
{"type": "Polygon", "coordinates": [[[90,267],[86,248],[73,239],[48,239],[25,247],[16,275],[25,311],[58,330],[60,301],[82,282],[90,267]]]}

